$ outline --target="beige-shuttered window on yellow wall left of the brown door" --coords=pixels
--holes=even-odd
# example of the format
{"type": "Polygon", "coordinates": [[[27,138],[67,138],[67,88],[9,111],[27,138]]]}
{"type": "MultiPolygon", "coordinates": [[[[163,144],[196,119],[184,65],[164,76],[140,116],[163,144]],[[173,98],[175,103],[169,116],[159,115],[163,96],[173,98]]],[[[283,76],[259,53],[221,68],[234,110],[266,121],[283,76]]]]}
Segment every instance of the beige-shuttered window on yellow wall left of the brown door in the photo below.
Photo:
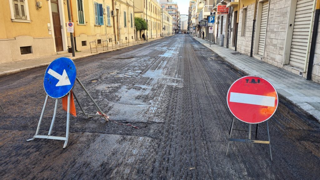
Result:
{"type": "Polygon", "coordinates": [[[11,20],[16,22],[31,22],[29,18],[28,0],[9,0],[11,20]]]}

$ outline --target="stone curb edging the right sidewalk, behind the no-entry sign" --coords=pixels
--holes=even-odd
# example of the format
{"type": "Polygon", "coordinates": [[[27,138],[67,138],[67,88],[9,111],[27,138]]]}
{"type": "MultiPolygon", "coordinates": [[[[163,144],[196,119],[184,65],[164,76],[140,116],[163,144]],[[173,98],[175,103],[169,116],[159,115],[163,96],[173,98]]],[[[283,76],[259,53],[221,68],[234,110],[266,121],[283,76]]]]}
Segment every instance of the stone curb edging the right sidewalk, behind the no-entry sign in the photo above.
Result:
{"type": "MultiPolygon", "coordinates": [[[[193,37],[196,41],[198,41],[195,37],[193,37]]],[[[199,43],[201,43],[200,41],[198,41],[199,43]]],[[[208,43],[211,43],[208,41],[208,43]]],[[[202,43],[201,43],[202,44],[202,43]]],[[[241,72],[244,76],[248,76],[250,75],[248,72],[245,72],[245,70],[243,69],[240,69],[239,67],[237,67],[236,65],[234,65],[232,62],[228,61],[228,59],[224,56],[221,56],[220,54],[216,53],[214,50],[212,50],[210,48],[209,45],[205,45],[205,44],[202,44],[204,46],[206,46],[207,48],[209,48],[213,53],[217,54],[218,56],[220,56],[221,59],[223,59],[224,61],[226,61],[233,69],[241,72]]],[[[320,118],[319,117],[316,117],[315,115],[311,114],[310,112],[308,112],[307,110],[303,109],[300,105],[292,102],[292,100],[290,100],[289,98],[285,97],[283,94],[279,93],[278,92],[278,95],[279,97],[281,97],[282,99],[284,99],[285,101],[289,102],[290,104],[292,104],[293,106],[295,106],[296,108],[298,108],[299,110],[301,110],[303,113],[305,113],[306,115],[314,118],[315,120],[317,120],[319,123],[320,123],[320,118]]]]}

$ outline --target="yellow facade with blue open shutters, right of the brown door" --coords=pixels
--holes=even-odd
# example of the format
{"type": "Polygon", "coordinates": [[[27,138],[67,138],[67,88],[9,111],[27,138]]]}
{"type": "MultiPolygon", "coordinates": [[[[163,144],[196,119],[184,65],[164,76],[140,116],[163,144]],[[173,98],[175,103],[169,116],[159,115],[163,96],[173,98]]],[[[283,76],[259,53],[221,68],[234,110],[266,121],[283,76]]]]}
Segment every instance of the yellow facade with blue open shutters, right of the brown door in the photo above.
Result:
{"type": "MultiPolygon", "coordinates": [[[[133,1],[71,0],[72,21],[75,23],[76,50],[110,46],[134,40],[133,1]]],[[[68,9],[65,8],[68,20],[68,9]]],[[[70,45],[70,33],[68,33],[70,45]]]]}

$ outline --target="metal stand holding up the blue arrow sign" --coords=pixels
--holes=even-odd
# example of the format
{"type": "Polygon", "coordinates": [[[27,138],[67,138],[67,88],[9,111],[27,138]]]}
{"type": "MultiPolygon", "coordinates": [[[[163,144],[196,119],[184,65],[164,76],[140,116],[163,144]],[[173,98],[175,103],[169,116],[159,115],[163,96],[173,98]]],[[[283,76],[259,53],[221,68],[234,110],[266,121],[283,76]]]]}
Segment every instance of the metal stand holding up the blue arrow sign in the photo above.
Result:
{"type": "MultiPolygon", "coordinates": [[[[97,103],[92,99],[91,95],[88,93],[88,91],[85,89],[85,87],[83,86],[83,84],[80,82],[80,80],[78,78],[76,78],[76,80],[78,81],[78,83],[80,84],[80,86],[82,87],[82,89],[84,90],[84,92],[90,97],[91,101],[93,102],[93,104],[97,107],[97,109],[100,111],[100,113],[102,114],[87,114],[85,113],[84,109],[82,108],[80,102],[78,101],[76,95],[73,93],[75,99],[76,99],[76,102],[79,104],[80,106],[80,109],[82,110],[82,112],[89,118],[92,118],[92,117],[101,117],[103,116],[104,119],[106,121],[108,121],[107,117],[104,115],[104,113],[102,112],[102,110],[100,109],[100,107],[97,105],[97,103]]],[[[49,133],[48,135],[38,135],[39,133],[39,130],[40,130],[40,124],[41,124],[41,121],[42,121],[42,118],[43,118],[43,115],[44,115],[44,110],[45,110],[45,106],[47,105],[47,101],[48,101],[48,95],[45,97],[45,100],[44,100],[44,105],[43,105],[43,108],[42,108],[42,112],[41,112],[41,115],[40,115],[40,119],[39,119],[39,123],[38,123],[38,127],[37,127],[37,130],[36,130],[36,134],[33,136],[33,138],[31,139],[28,139],[27,141],[32,141],[34,140],[35,138],[44,138],[44,139],[55,139],[55,140],[62,140],[62,141],[65,141],[64,142],[64,145],[63,145],[63,148],[65,148],[67,146],[67,143],[68,143],[68,136],[69,136],[69,121],[70,121],[70,95],[71,95],[71,92],[68,93],[68,107],[67,107],[67,129],[66,129],[66,137],[60,137],[60,136],[52,136],[51,135],[51,131],[52,131],[52,127],[53,127],[53,124],[54,124],[54,120],[55,120],[55,117],[56,117],[56,112],[57,112],[57,106],[58,106],[58,99],[56,99],[56,102],[55,102],[55,106],[54,106],[54,112],[53,112],[53,117],[52,117],[52,121],[51,121],[51,125],[50,125],[50,129],[49,129],[49,133]]],[[[2,107],[1,107],[2,108],[2,107]]]]}

